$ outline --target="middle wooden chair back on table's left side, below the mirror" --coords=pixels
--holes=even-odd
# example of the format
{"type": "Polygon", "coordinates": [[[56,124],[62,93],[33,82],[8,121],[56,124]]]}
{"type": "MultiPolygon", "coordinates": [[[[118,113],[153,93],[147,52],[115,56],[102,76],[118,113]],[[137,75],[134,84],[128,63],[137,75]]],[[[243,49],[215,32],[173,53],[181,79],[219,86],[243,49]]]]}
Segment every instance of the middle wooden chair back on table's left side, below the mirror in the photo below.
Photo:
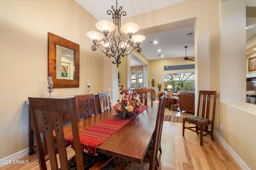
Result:
{"type": "MultiPolygon", "coordinates": [[[[84,94],[75,96],[78,113],[84,115],[84,119],[98,114],[94,94],[84,94]]],[[[78,114],[79,117],[80,114],[78,114]]],[[[80,117],[79,117],[80,118],[80,117]]]]}

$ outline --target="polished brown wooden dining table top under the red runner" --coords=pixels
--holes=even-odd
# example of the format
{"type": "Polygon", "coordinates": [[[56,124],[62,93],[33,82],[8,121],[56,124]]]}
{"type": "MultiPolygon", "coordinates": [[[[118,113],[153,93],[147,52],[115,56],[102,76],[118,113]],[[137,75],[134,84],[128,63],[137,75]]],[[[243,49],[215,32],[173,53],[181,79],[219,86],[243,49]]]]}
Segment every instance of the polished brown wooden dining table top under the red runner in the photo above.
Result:
{"type": "MultiPolygon", "coordinates": [[[[154,133],[157,111],[158,107],[148,107],[98,145],[96,151],[141,164],[154,133]]],[[[82,131],[115,114],[112,110],[108,110],[82,119],[78,121],[78,129],[82,131]]],[[[64,132],[65,139],[72,136],[71,125],[65,126],[64,132]]]]}

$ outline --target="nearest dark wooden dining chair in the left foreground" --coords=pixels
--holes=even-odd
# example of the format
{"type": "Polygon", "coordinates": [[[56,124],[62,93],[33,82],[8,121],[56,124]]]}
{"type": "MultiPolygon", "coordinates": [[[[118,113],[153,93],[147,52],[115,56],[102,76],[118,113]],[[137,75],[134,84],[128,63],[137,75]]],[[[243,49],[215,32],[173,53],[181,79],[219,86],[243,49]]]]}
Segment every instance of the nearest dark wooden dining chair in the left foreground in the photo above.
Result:
{"type": "Polygon", "coordinates": [[[40,128],[44,130],[52,170],[58,170],[59,168],[62,170],[68,170],[70,168],[84,170],[85,168],[89,169],[91,167],[101,169],[110,166],[111,168],[121,170],[121,161],[118,162],[112,156],[94,156],[93,154],[82,152],[78,132],[77,107],[74,99],[28,98],[28,100],[34,136],[36,138],[38,162],[41,170],[46,170],[47,166],[44,154],[44,149],[46,148],[42,146],[40,128]],[[75,156],[70,160],[67,158],[62,114],[69,114],[71,119],[75,156]],[[40,121],[43,123],[39,124],[40,121]],[[115,163],[110,163],[110,160],[113,160],[115,163]]]}

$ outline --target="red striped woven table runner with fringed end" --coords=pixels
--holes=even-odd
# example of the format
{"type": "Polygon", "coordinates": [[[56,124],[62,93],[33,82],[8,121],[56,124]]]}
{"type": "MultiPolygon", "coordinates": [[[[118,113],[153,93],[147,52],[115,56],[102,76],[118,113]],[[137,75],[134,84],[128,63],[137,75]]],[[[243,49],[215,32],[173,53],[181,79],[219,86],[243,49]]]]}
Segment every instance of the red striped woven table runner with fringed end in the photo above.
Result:
{"type": "MultiPolygon", "coordinates": [[[[138,114],[142,113],[142,111],[144,111],[146,108],[148,108],[148,106],[139,107],[138,114]]],[[[82,151],[92,153],[92,150],[94,150],[95,155],[98,145],[102,144],[102,142],[116,133],[116,131],[134,119],[138,114],[125,117],[124,119],[120,119],[119,115],[116,114],[108,119],[105,119],[104,121],[97,123],[96,125],[80,131],[79,136],[82,151]]],[[[71,145],[71,147],[74,149],[73,137],[66,139],[66,145],[71,145]]]]}

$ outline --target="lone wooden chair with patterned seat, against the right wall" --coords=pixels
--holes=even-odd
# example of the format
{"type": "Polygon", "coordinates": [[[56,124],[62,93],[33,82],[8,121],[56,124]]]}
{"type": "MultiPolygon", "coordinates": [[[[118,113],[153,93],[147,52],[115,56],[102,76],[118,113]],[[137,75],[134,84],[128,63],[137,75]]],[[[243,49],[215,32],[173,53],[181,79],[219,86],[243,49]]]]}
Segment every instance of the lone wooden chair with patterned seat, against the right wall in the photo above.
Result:
{"type": "Polygon", "coordinates": [[[196,116],[184,117],[183,118],[183,127],[182,127],[182,136],[184,136],[185,129],[200,134],[200,145],[203,145],[203,137],[206,135],[211,135],[212,141],[214,141],[213,131],[214,131],[214,116],[215,116],[215,105],[216,105],[216,91],[199,91],[198,98],[198,107],[196,116]],[[185,123],[191,123],[195,126],[191,127],[185,126],[185,123]],[[208,126],[211,125],[210,131],[208,126]],[[195,128],[192,129],[192,128],[195,128]],[[200,132],[198,132],[200,130],[200,132]]]}

